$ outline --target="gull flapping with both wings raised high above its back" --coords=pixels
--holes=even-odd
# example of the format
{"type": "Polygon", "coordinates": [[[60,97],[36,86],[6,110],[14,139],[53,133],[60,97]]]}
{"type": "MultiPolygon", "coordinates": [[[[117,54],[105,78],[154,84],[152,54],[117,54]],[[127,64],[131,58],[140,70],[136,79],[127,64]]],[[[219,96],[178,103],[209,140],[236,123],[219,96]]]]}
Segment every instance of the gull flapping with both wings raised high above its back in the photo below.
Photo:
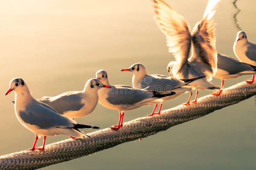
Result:
{"type": "MultiPolygon", "coordinates": [[[[176,61],[169,63],[167,70],[170,76],[178,79],[190,79],[206,76],[203,79],[190,83],[198,90],[215,90],[220,86],[211,82],[217,71],[217,51],[215,49],[215,33],[212,17],[220,0],[208,0],[204,17],[197,22],[192,32],[183,16],[174,11],[164,0],[154,1],[155,19],[160,30],[165,34],[169,52],[172,52],[176,61]],[[192,55],[189,58],[190,48],[192,55]]],[[[189,104],[192,92],[186,105],[189,104]]],[[[193,102],[196,102],[195,101],[193,102]]]]}

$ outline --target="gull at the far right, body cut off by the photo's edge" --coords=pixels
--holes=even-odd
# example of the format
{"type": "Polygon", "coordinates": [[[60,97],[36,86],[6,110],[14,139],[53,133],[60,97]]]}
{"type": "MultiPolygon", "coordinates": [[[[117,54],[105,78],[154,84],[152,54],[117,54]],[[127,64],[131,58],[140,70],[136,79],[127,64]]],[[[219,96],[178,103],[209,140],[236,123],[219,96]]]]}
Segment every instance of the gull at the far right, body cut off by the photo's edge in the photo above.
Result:
{"type": "MultiPolygon", "coordinates": [[[[256,66],[256,44],[248,41],[247,35],[244,31],[239,31],[236,34],[236,41],[233,46],[236,57],[245,63],[249,63],[256,66]]],[[[247,83],[254,81],[255,75],[252,75],[252,79],[246,80],[247,83]]]]}

